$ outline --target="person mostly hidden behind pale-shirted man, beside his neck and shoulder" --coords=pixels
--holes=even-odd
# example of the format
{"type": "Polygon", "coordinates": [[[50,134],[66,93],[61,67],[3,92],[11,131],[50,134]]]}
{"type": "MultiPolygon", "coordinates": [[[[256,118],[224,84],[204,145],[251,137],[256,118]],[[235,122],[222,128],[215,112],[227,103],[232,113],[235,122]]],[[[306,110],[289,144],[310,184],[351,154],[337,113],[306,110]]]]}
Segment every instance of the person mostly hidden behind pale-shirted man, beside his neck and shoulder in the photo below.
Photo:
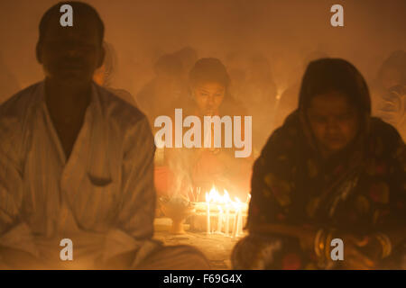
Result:
{"type": "Polygon", "coordinates": [[[117,66],[117,58],[115,54],[115,49],[112,44],[104,41],[103,49],[105,49],[105,60],[103,61],[103,65],[97,68],[97,70],[95,71],[95,74],[93,75],[93,80],[97,83],[97,85],[105,87],[111,93],[115,94],[116,96],[123,99],[125,102],[130,103],[134,107],[136,107],[137,103],[135,103],[132,94],[125,91],[124,89],[116,89],[111,86],[115,69],[117,66]]]}

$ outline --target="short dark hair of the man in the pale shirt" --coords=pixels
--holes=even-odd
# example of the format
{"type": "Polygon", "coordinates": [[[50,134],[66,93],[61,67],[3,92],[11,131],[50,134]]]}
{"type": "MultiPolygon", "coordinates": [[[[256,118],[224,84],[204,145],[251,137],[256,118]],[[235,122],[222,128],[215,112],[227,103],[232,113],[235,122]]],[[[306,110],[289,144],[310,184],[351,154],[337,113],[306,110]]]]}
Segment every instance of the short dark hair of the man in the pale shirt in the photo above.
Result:
{"type": "Polygon", "coordinates": [[[45,12],[45,14],[42,15],[40,26],[39,26],[39,30],[40,30],[39,42],[40,43],[42,42],[52,16],[54,16],[54,14],[61,15],[60,6],[63,4],[69,4],[70,6],[72,6],[73,17],[75,17],[75,14],[81,14],[81,15],[95,18],[96,23],[97,23],[99,39],[100,39],[100,45],[102,45],[103,39],[105,37],[105,24],[101,20],[99,14],[97,13],[95,8],[93,8],[89,4],[86,4],[83,2],[78,2],[78,1],[64,1],[64,2],[60,2],[58,4],[54,4],[53,6],[51,6],[50,9],[48,9],[45,12]]]}

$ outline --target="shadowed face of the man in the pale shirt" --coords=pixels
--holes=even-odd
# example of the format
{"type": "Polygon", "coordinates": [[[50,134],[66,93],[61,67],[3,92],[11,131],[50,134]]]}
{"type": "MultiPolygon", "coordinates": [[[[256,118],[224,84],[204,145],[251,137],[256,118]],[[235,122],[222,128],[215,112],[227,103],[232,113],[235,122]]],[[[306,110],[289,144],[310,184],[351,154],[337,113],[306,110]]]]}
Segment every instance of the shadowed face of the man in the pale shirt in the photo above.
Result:
{"type": "Polygon", "coordinates": [[[43,40],[38,44],[38,58],[45,76],[62,85],[83,85],[103,63],[97,22],[92,17],[74,16],[73,27],[61,27],[57,15],[51,18],[43,40]]]}

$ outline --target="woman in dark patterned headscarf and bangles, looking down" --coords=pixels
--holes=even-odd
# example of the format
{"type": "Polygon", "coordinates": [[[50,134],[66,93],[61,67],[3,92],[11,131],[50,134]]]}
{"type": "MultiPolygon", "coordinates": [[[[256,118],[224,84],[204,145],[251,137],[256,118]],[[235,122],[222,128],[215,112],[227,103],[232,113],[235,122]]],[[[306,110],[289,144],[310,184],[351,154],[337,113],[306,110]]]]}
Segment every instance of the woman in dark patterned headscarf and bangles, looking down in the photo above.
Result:
{"type": "Polygon", "coordinates": [[[405,144],[371,117],[356,68],[311,62],[298,110],[255,161],[249,236],[234,248],[234,268],[405,268],[405,167],[405,144]],[[344,261],[330,257],[333,238],[344,261]]]}

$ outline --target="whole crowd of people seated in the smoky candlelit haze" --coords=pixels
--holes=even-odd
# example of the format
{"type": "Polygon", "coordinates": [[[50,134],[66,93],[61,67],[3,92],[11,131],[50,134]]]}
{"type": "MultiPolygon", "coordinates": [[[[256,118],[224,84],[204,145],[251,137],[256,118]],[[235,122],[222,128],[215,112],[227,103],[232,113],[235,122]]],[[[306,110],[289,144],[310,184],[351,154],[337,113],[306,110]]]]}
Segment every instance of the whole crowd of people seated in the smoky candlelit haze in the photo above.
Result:
{"type": "Polygon", "coordinates": [[[162,55],[133,96],[113,87],[116,52],[97,11],[69,4],[72,28],[59,25],[60,4],[42,16],[44,80],[0,105],[0,267],[209,269],[197,247],[153,239],[153,220],[157,199],[215,184],[252,196],[236,269],[406,268],[404,51],[372,85],[316,51],[281,92],[264,55],[228,69],[186,47],[162,55]],[[180,108],[252,116],[252,155],[164,148],[157,162],[154,121],[180,108]],[[60,261],[61,238],[76,243],[71,264],[60,261]],[[344,261],[329,258],[333,238],[344,261]]]}

